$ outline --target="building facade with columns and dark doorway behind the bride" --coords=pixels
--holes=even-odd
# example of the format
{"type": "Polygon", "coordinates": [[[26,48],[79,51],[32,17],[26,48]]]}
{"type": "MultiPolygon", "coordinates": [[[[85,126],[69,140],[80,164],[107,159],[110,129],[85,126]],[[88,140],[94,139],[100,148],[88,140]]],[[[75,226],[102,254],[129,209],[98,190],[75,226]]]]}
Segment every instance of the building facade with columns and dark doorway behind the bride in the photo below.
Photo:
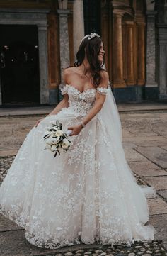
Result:
{"type": "Polygon", "coordinates": [[[57,104],[62,70],[91,32],[117,101],[167,99],[166,0],[1,0],[1,106],[57,104]]]}

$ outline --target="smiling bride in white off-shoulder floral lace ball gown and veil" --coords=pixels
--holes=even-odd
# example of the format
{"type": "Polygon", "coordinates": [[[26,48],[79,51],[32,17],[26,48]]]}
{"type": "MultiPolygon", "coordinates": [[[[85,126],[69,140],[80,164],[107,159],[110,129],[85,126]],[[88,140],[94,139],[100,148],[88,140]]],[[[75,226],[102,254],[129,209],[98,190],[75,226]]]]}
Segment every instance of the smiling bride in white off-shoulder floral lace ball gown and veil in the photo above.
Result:
{"type": "Polygon", "coordinates": [[[131,245],[154,239],[145,192],[122,148],[120,118],[99,35],[86,35],[74,67],[64,70],[64,98],[30,130],[0,188],[0,212],[25,228],[33,245],[131,245]],[[52,123],[71,130],[71,147],[54,158],[43,135],[52,123]]]}

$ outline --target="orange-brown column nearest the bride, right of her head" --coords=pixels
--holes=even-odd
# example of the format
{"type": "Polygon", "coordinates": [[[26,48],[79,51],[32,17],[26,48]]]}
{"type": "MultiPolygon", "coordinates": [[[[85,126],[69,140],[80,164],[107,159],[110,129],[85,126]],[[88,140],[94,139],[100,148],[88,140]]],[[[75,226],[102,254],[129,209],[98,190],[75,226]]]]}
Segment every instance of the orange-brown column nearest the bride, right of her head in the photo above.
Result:
{"type": "Polygon", "coordinates": [[[123,12],[114,12],[113,37],[113,87],[125,87],[123,77],[123,50],[122,50],[122,16],[123,12]]]}

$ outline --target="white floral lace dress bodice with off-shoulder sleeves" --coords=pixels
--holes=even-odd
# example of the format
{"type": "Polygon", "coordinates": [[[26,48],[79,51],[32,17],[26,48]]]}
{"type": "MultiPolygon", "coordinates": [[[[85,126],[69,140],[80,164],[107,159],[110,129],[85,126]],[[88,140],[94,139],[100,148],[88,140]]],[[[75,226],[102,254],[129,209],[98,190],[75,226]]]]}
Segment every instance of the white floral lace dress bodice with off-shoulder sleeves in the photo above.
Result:
{"type": "Polygon", "coordinates": [[[108,89],[98,87],[97,89],[91,88],[81,92],[72,85],[66,84],[62,87],[61,91],[62,95],[69,95],[69,108],[71,108],[74,113],[79,114],[80,116],[85,116],[95,102],[96,91],[100,94],[106,94],[108,89]]]}

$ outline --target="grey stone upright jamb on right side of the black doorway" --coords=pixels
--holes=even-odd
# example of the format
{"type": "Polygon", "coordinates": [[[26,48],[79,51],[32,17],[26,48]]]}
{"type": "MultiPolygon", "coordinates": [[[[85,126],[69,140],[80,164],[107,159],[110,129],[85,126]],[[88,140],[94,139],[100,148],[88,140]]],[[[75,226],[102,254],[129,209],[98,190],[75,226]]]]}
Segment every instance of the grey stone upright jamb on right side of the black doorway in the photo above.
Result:
{"type": "Polygon", "coordinates": [[[38,26],[39,64],[40,64],[40,104],[49,104],[47,70],[47,26],[38,26]]]}

